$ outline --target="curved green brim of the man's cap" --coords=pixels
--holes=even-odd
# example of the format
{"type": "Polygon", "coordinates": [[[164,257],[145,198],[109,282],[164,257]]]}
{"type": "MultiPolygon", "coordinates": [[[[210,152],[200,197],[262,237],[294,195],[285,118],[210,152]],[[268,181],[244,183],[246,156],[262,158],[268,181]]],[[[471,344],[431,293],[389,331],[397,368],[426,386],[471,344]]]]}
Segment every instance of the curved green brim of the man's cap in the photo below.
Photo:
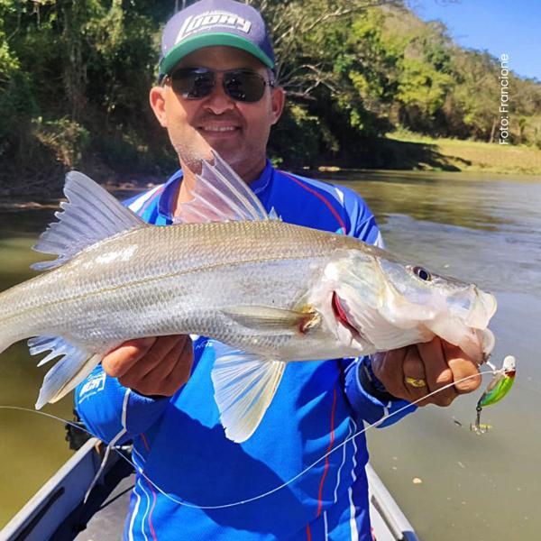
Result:
{"type": "Polygon", "coordinates": [[[256,59],[267,66],[267,68],[274,69],[274,62],[252,41],[248,41],[241,36],[237,36],[233,33],[215,32],[205,33],[199,36],[194,36],[188,40],[181,41],[178,45],[173,47],[164,57],[160,60],[160,75],[169,75],[171,69],[173,69],[185,56],[190,52],[203,47],[212,47],[214,45],[226,45],[229,47],[235,47],[236,49],[242,49],[252,54],[256,59]]]}

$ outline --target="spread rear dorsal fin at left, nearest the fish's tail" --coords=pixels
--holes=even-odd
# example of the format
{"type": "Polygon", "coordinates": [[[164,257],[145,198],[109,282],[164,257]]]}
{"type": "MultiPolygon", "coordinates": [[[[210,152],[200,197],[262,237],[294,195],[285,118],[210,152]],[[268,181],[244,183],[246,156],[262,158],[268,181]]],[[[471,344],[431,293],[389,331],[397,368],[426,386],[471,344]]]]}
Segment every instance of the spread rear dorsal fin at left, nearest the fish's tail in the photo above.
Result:
{"type": "Polygon", "coordinates": [[[105,188],[78,171],[66,176],[64,194],[68,201],[60,203],[63,212],[55,213],[59,221],[50,224],[33,246],[36,252],[54,253],[58,257],[34,263],[32,269],[59,267],[98,241],[146,225],[105,188]]]}

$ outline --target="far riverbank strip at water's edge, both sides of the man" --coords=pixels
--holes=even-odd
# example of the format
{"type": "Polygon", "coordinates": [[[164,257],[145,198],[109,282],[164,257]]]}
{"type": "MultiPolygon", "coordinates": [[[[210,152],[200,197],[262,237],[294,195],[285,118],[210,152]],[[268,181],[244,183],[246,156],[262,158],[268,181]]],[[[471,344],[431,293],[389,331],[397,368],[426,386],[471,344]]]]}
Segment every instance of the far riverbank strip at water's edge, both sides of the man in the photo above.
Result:
{"type": "MultiPolygon", "coordinates": [[[[174,167],[172,164],[171,168],[174,167]]],[[[399,132],[381,139],[359,142],[358,153],[354,158],[341,160],[327,156],[319,163],[297,169],[289,167],[287,160],[284,160],[280,167],[308,176],[314,170],[420,170],[541,175],[541,150],[525,145],[436,139],[417,133],[399,132]]],[[[160,175],[159,172],[112,170],[99,160],[89,160],[78,169],[112,191],[129,192],[151,188],[167,178],[166,173],[160,175]]],[[[56,205],[56,200],[62,195],[63,184],[64,170],[60,164],[36,178],[13,174],[2,179],[0,176],[0,208],[37,205],[32,199],[41,202],[52,199],[51,204],[56,205]]]]}

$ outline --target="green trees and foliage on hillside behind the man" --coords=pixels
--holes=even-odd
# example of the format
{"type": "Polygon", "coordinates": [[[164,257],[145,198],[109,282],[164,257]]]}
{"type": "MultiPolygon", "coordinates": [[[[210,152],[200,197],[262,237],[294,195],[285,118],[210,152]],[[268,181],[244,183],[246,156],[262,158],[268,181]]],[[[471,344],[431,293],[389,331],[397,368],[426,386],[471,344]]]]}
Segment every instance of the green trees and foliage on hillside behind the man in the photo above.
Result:
{"type": "MultiPolygon", "coordinates": [[[[497,137],[499,60],[459,48],[403,0],[248,1],[271,29],[288,95],[271,134],[275,162],[384,167],[393,151],[381,137],[402,129],[497,137]]],[[[175,5],[0,0],[0,182],[76,165],[119,175],[176,167],[148,105],[175,5]]],[[[511,74],[509,87],[510,141],[541,148],[541,85],[511,74]]]]}

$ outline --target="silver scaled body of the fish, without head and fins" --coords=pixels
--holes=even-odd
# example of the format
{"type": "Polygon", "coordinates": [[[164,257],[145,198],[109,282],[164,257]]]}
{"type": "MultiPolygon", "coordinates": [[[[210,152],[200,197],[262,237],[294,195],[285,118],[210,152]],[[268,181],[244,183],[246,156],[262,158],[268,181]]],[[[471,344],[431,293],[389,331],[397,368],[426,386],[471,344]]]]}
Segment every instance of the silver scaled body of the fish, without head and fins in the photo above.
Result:
{"type": "Polygon", "coordinates": [[[5,291],[0,326],[17,340],[61,335],[90,351],[141,336],[195,333],[269,353],[292,334],[248,329],[220,308],[297,308],[326,263],[364,247],[279,221],[146,226],[5,291]]]}

